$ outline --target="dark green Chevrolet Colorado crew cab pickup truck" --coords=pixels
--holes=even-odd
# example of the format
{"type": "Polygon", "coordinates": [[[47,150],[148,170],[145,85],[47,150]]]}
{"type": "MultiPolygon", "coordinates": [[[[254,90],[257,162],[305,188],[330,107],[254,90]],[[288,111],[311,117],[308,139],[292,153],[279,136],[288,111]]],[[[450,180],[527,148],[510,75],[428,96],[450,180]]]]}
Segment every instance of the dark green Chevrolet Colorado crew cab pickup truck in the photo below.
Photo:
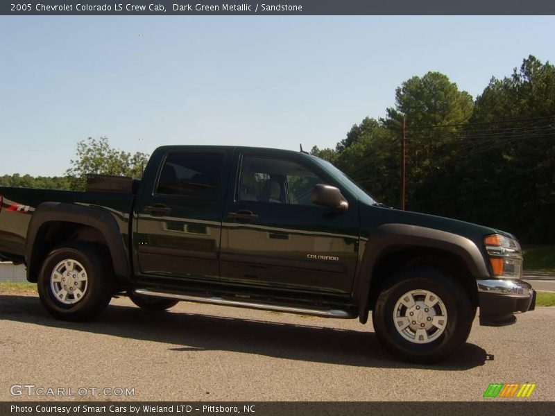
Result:
{"type": "MultiPolygon", "coordinates": [[[[108,180],[109,183],[110,180],[108,180]]],[[[430,363],[480,323],[534,308],[511,234],[379,205],[302,152],[164,146],[142,180],[87,192],[0,188],[0,259],[44,307],[86,320],[113,295],[330,318],[372,311],[385,347],[430,363]]]]}

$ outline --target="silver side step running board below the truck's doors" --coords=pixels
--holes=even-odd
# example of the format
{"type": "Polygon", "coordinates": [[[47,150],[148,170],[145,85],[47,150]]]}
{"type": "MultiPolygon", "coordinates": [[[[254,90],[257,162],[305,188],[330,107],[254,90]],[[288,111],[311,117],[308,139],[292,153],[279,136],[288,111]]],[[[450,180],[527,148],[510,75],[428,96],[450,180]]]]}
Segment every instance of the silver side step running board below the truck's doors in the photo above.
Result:
{"type": "Polygon", "coordinates": [[[137,295],[143,295],[143,296],[171,297],[172,299],[187,300],[189,302],[198,302],[198,303],[205,303],[205,304],[241,306],[243,308],[262,309],[264,311],[301,313],[303,315],[322,316],[324,318],[345,318],[346,319],[346,318],[357,317],[355,314],[351,312],[340,311],[339,309],[322,311],[318,309],[296,308],[293,306],[279,306],[279,305],[260,304],[255,302],[245,302],[243,300],[228,300],[228,299],[222,299],[221,297],[202,297],[202,296],[180,295],[178,293],[154,292],[148,289],[137,289],[135,293],[137,293],[137,295]]]}

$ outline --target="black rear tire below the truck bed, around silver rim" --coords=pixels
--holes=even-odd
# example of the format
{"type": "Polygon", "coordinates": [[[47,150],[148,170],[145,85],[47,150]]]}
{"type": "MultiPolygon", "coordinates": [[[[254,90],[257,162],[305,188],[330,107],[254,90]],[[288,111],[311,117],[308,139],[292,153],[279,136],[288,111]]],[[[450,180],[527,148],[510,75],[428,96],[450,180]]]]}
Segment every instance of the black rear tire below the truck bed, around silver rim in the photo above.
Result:
{"type": "Polygon", "coordinates": [[[71,321],[86,321],[94,318],[108,306],[114,293],[114,273],[110,253],[100,246],[87,243],[71,243],[55,248],[42,263],[37,288],[44,308],[56,318],[71,321]],[[61,291],[69,280],[55,281],[57,278],[54,277],[54,272],[60,270],[57,266],[67,259],[74,261],[74,270],[65,268],[62,276],[64,279],[72,279],[68,290],[73,293],[70,295],[69,291],[66,291],[67,297],[64,302],[61,300],[63,297],[61,291]],[[77,270],[81,270],[81,266],[86,273],[84,283],[76,281],[79,277],[76,279],[67,275],[72,271],[80,275],[81,272],[77,270]],[[81,292],[83,295],[78,297],[74,287],[83,289],[81,292]]]}

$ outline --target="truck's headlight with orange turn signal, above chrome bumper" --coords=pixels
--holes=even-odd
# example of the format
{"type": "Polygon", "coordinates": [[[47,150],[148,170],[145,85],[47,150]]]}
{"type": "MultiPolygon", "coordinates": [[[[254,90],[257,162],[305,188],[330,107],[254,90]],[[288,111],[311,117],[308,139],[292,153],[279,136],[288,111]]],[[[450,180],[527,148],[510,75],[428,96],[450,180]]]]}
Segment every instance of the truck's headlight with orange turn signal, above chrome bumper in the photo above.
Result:
{"type": "Polygon", "coordinates": [[[514,239],[501,234],[486,236],[486,251],[490,257],[493,276],[501,279],[522,277],[522,250],[514,239]]]}

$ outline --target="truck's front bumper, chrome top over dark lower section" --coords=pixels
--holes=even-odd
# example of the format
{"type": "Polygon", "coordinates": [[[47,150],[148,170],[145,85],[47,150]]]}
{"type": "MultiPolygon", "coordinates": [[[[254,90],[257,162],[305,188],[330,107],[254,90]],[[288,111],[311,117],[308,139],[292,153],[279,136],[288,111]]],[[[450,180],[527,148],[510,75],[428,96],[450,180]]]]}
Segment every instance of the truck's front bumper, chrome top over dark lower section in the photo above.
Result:
{"type": "Polygon", "coordinates": [[[533,311],[536,291],[522,280],[478,280],[480,324],[501,327],[516,322],[515,312],[533,311]]]}

